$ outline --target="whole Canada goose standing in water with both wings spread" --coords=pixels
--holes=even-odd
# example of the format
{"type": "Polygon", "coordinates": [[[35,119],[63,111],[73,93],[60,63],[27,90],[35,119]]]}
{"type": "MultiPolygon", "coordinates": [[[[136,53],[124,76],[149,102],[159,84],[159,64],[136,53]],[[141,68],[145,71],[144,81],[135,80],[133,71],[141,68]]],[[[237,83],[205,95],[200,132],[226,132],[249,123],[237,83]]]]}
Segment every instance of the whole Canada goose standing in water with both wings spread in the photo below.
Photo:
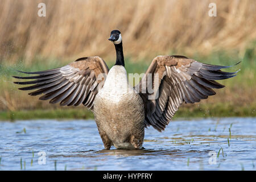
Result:
{"type": "Polygon", "coordinates": [[[34,84],[19,89],[36,89],[28,94],[44,94],[40,100],[50,100],[51,104],[60,102],[61,106],[83,104],[91,109],[105,149],[142,148],[144,127],[164,130],[183,102],[195,103],[216,94],[213,88],[224,85],[214,80],[237,73],[220,70],[230,66],[204,64],[185,56],[157,56],[139,84],[133,87],[127,79],[121,32],[113,30],[109,40],[114,43],[117,57],[110,70],[103,59],[93,56],[47,71],[19,71],[38,76],[14,76],[35,79],[14,83],[34,84]],[[149,92],[151,86],[154,92],[149,92]]]}

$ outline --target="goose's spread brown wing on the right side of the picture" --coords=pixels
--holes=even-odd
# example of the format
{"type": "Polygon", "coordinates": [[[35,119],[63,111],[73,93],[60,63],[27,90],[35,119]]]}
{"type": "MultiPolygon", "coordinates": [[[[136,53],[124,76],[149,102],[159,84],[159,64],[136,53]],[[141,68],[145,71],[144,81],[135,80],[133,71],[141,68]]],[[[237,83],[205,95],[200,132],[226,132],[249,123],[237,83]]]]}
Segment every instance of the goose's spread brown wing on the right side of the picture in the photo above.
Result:
{"type": "Polygon", "coordinates": [[[195,103],[216,94],[213,88],[220,89],[224,85],[214,80],[236,76],[237,72],[220,70],[228,67],[203,64],[185,56],[155,57],[135,86],[144,102],[145,127],[152,125],[162,131],[183,102],[195,103]],[[150,73],[152,79],[148,77],[150,73]],[[151,85],[153,92],[149,93],[151,85]]]}

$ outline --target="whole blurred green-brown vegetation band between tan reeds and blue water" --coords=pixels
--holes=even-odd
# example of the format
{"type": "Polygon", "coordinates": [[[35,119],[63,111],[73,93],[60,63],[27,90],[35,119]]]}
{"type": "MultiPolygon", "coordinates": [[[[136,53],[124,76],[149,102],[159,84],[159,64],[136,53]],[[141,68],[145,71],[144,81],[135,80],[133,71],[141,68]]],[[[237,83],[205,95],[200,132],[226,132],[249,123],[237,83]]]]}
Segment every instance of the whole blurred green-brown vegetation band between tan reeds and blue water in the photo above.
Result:
{"type": "MultiPolygon", "coordinates": [[[[170,53],[174,55],[177,53],[170,53]]],[[[185,55],[185,54],[183,54],[185,55]]],[[[255,117],[256,112],[256,53],[253,49],[247,49],[242,57],[238,52],[213,52],[209,56],[189,55],[193,59],[208,64],[239,65],[226,69],[226,71],[237,71],[237,76],[228,80],[221,80],[226,85],[224,89],[216,89],[216,96],[210,96],[196,104],[183,104],[175,114],[175,118],[201,118],[201,117],[255,117]],[[239,58],[240,57],[240,58],[239,58]]],[[[152,60],[152,59],[151,59],[152,60]]],[[[144,73],[151,60],[134,61],[126,58],[127,73],[144,73]]],[[[59,61],[55,59],[36,59],[30,65],[19,61],[18,64],[0,64],[0,120],[14,121],[16,119],[89,119],[93,113],[84,106],[61,107],[57,104],[48,104],[40,101],[38,97],[28,96],[28,92],[18,90],[19,85],[13,84],[13,75],[22,76],[22,71],[40,71],[61,67],[71,61],[59,61]]],[[[112,67],[114,61],[108,62],[112,67]]],[[[230,126],[231,128],[231,126],[230,126]]]]}

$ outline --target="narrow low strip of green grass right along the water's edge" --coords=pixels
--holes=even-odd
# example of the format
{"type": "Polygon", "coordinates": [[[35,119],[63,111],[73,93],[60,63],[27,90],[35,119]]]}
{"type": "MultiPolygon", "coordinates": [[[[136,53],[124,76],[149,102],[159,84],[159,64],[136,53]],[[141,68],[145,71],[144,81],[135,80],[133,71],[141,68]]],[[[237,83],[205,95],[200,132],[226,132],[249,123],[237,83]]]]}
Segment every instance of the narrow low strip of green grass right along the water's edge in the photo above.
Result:
{"type": "MultiPolygon", "coordinates": [[[[208,117],[256,117],[251,107],[236,107],[233,105],[218,104],[200,104],[191,107],[180,107],[174,116],[177,118],[208,118],[208,117]]],[[[35,110],[17,110],[0,111],[0,121],[15,121],[17,119],[93,119],[92,111],[85,107],[77,109],[65,107],[65,109],[35,109],[35,110]]],[[[22,130],[23,131],[23,130],[22,130]]]]}

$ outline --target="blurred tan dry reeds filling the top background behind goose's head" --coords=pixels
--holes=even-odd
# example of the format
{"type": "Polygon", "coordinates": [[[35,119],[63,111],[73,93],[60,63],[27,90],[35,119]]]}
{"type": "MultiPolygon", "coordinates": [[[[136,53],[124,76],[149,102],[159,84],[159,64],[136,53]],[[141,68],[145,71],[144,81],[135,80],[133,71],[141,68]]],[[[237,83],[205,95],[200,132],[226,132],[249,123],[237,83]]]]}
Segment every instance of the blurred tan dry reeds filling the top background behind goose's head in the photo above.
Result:
{"type": "MultiPolygon", "coordinates": [[[[109,32],[122,32],[125,54],[154,57],[170,51],[246,48],[256,39],[256,1],[47,1],[2,0],[0,61],[35,56],[75,59],[114,55],[109,32]],[[46,17],[38,3],[46,3],[46,17]],[[208,5],[217,5],[210,17],[208,5]],[[139,51],[138,51],[139,50],[139,51]]],[[[113,59],[113,56],[112,56],[113,59]]]]}

